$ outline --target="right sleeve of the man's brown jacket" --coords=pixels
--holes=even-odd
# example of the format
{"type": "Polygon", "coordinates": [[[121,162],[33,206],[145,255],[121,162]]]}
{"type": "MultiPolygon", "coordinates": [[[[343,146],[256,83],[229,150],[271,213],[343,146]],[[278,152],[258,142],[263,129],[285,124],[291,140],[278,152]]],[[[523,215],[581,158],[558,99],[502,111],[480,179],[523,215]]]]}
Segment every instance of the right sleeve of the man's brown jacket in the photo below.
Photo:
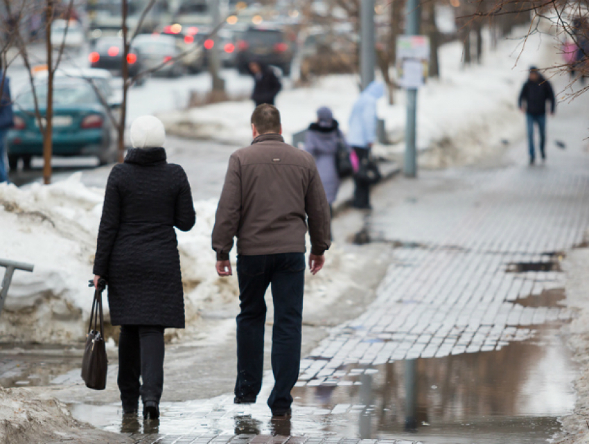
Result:
{"type": "Polygon", "coordinates": [[[321,256],[331,247],[331,211],[317,166],[313,163],[305,196],[305,211],[311,238],[311,253],[321,256]]]}

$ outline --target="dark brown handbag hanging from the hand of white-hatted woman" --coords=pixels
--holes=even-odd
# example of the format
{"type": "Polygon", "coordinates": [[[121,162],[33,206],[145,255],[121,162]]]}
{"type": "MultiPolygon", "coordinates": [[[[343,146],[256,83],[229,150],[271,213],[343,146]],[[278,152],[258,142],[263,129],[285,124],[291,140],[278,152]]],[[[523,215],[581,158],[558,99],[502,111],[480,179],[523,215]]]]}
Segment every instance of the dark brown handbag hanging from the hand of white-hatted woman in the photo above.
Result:
{"type": "MultiPolygon", "coordinates": [[[[94,284],[91,283],[91,285],[94,284]]],[[[98,288],[94,292],[90,325],[82,358],[82,380],[86,383],[86,387],[94,390],[104,390],[106,387],[108,359],[105,348],[102,296],[105,286],[104,279],[100,279],[98,288]]]]}

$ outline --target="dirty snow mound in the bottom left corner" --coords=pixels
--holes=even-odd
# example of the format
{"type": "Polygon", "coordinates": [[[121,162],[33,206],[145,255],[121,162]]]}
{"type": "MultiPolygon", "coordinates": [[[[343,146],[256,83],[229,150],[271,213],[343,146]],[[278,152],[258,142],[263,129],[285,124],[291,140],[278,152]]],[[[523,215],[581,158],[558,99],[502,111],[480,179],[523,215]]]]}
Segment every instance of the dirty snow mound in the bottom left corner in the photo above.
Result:
{"type": "Polygon", "coordinates": [[[0,387],[0,444],[71,441],[78,444],[132,443],[126,437],[78,423],[55,398],[39,398],[26,389],[0,387]]]}

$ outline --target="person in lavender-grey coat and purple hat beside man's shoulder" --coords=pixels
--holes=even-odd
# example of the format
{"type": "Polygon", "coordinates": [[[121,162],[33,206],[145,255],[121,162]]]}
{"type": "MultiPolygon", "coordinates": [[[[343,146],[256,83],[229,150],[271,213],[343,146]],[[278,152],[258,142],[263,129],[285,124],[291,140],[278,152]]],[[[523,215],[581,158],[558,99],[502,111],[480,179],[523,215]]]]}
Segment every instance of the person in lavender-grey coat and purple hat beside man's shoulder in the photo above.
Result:
{"type": "Polygon", "coordinates": [[[305,150],[315,159],[330,210],[340,188],[340,176],[335,163],[340,143],[346,143],[344,134],[333,118],[331,109],[317,109],[317,121],[311,123],[306,132],[305,150]]]}

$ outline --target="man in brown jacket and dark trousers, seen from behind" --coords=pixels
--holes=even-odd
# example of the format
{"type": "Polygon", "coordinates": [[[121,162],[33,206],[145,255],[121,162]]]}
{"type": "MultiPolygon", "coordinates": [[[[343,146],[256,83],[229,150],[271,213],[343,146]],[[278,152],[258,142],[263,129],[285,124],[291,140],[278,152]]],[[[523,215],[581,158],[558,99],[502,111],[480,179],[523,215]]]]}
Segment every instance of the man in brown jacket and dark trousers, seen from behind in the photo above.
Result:
{"type": "Polygon", "coordinates": [[[311,240],[309,267],[315,275],[331,245],[329,205],[315,161],[284,143],[280,113],[260,105],[252,114],[254,141],[229,159],[213,229],[217,273],[231,276],[229,251],[237,236],[241,312],[237,317],[236,404],[256,402],[262,387],[264,295],[272,284],[274,389],[268,406],[290,416],[290,391],[299,377],[305,274],[305,233],[311,240]]]}

